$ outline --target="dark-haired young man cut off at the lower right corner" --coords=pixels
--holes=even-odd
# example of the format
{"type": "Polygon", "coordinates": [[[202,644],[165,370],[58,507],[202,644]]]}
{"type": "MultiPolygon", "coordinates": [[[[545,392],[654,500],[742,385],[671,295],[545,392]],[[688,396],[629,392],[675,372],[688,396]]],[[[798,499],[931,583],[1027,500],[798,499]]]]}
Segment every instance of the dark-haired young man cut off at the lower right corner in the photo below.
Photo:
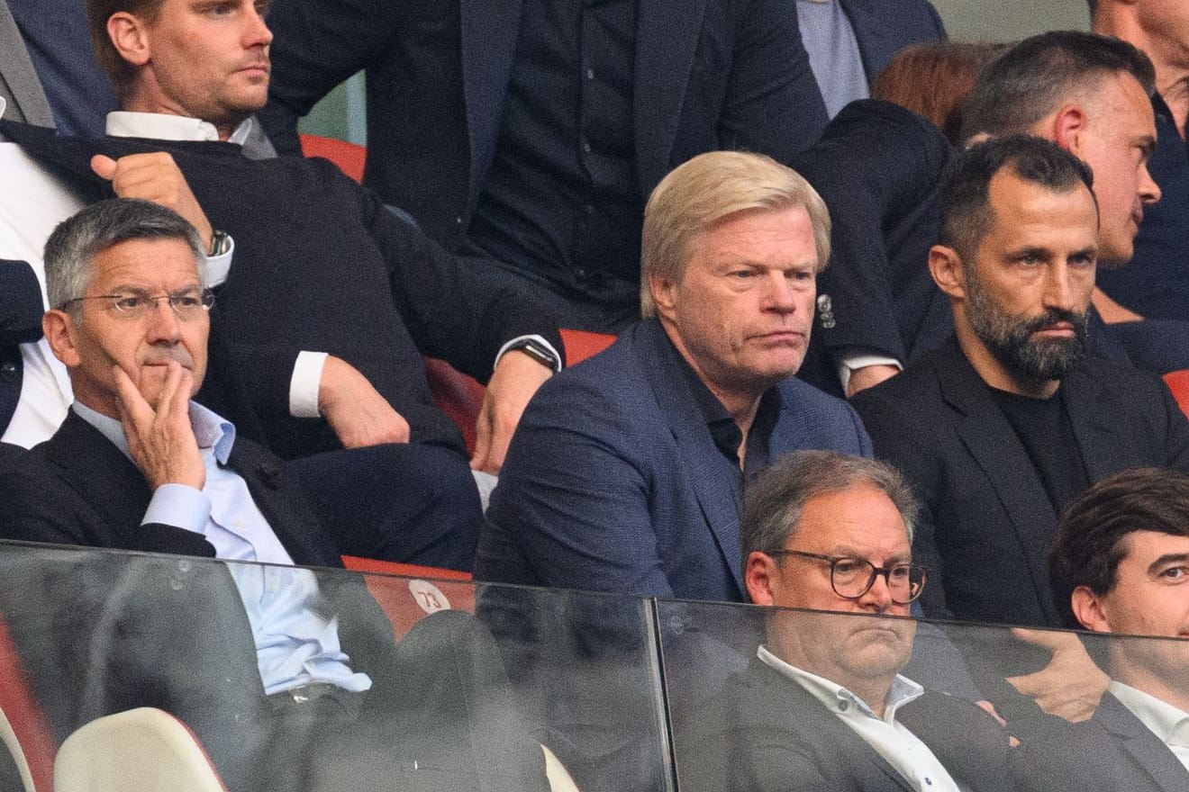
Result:
{"type": "Polygon", "coordinates": [[[1062,515],[1050,562],[1065,625],[1124,635],[1082,636],[1107,692],[1090,720],[1020,746],[1021,788],[1189,788],[1189,475],[1099,482],[1062,515]]]}

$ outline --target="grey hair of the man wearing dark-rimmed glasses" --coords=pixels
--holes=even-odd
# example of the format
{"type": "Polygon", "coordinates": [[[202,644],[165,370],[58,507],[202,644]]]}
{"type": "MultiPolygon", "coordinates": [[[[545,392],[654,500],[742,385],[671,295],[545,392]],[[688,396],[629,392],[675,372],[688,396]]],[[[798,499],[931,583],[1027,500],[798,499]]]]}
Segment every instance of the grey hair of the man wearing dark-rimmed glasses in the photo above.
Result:
{"type": "Polygon", "coordinates": [[[753,552],[784,550],[800,526],[801,512],[813,498],[853,487],[872,486],[888,496],[912,541],[917,499],[900,471],[877,460],[838,451],[794,451],[782,456],[748,486],[740,514],[743,565],[753,552]]]}

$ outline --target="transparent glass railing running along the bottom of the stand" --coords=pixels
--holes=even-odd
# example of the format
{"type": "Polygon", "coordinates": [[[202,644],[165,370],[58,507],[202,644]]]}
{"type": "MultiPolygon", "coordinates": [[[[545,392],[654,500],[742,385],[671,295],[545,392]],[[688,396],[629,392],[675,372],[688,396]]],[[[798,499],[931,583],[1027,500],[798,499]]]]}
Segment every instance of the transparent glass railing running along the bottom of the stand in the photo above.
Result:
{"type": "Polygon", "coordinates": [[[1095,659],[1184,708],[1187,641],[21,544],[0,616],[0,709],[42,779],[150,707],[233,792],[1082,792],[1145,761],[1189,790],[1158,739],[1119,747],[1119,722],[1151,742],[1143,693],[1094,715],[1095,659]]]}

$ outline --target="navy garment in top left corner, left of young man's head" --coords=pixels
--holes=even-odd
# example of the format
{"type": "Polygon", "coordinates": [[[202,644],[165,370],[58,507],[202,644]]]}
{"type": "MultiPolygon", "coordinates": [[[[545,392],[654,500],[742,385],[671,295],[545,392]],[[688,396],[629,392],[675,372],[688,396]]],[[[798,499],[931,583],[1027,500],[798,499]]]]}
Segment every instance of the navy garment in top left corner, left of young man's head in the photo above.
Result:
{"type": "Polygon", "coordinates": [[[81,0],[7,0],[63,134],[101,138],[115,93],[99,68],[81,0]]]}

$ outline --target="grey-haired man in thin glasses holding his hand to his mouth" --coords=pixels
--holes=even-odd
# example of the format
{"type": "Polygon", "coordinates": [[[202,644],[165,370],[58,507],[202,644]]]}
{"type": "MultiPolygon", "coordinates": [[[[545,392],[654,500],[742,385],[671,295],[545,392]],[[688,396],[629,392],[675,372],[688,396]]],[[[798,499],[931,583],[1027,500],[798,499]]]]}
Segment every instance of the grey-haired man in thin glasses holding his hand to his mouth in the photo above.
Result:
{"type": "MultiPolygon", "coordinates": [[[[420,761],[470,780],[477,760],[467,746],[483,743],[484,734],[504,735],[498,741],[523,735],[514,718],[502,720],[511,715],[498,703],[504,695],[498,685],[471,684],[492,678],[484,674],[495,667],[495,658],[484,655],[482,628],[451,616],[427,622],[398,648],[361,581],[294,568],[339,565],[333,537],[314,517],[297,477],[191,401],[207,370],[214,302],[202,249],[177,214],[133,199],[93,204],[61,224],[46,245],[52,308],[43,328],[70,372],[75,403],[54,437],[4,463],[0,536],[254,562],[227,568],[182,562],[170,572],[176,585],[156,587],[159,559],[111,556],[94,563],[114,563],[117,571],[126,564],[127,575],[119,578],[126,583],[100,590],[87,583],[101,576],[59,575],[65,565],[46,556],[15,563],[18,576],[39,570],[5,603],[14,633],[27,629],[18,650],[34,677],[49,674],[58,691],[51,701],[63,701],[62,688],[77,693],[65,697],[64,709],[48,708],[56,733],[81,726],[77,718],[87,714],[162,707],[194,729],[231,788],[317,788],[307,774],[341,759],[320,754],[340,733],[391,750],[359,754],[360,768],[392,760],[391,771],[400,774],[400,762],[419,754],[420,761]],[[156,575],[149,571],[155,564],[156,575]],[[44,627],[63,598],[77,608],[44,627]],[[27,609],[29,600],[40,608],[27,609]],[[119,616],[74,625],[75,612],[95,602],[119,616]],[[96,646],[109,653],[94,654],[96,646]],[[451,684],[424,663],[402,660],[419,652],[422,659],[438,657],[439,650],[461,660],[457,669],[467,669],[451,684]],[[472,670],[480,676],[467,676],[472,670]],[[93,701],[88,691],[96,679],[102,693],[93,701]],[[419,710],[413,702],[430,689],[460,698],[424,701],[427,709],[419,710]],[[495,720],[438,723],[445,730],[436,743],[420,741],[422,727],[435,724],[429,714],[439,705],[468,708],[479,701],[471,693],[496,695],[493,709],[479,708],[495,720]],[[474,734],[457,730],[472,726],[474,734]]],[[[21,552],[11,550],[5,562],[21,552]]],[[[492,768],[497,786],[543,783],[536,778],[543,773],[540,747],[526,745],[527,752],[507,746],[517,759],[508,777],[492,768]]],[[[351,747],[346,740],[340,749],[351,747]]]]}

